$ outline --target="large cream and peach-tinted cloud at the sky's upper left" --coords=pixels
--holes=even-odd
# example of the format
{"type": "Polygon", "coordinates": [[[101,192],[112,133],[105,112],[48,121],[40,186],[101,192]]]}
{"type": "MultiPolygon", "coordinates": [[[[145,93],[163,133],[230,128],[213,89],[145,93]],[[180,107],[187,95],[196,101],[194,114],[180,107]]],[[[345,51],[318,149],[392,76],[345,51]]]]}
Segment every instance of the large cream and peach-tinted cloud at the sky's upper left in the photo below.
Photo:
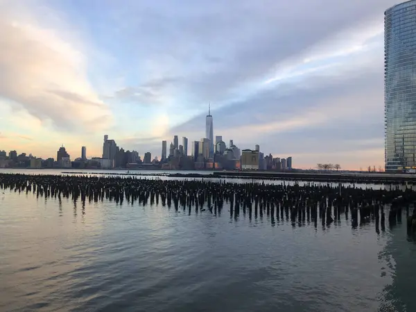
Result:
{"type": "Polygon", "coordinates": [[[15,15],[12,8],[2,8],[0,96],[55,129],[105,127],[97,118],[108,122],[112,113],[87,81],[83,52],[53,29],[23,19],[26,15],[15,15]]]}

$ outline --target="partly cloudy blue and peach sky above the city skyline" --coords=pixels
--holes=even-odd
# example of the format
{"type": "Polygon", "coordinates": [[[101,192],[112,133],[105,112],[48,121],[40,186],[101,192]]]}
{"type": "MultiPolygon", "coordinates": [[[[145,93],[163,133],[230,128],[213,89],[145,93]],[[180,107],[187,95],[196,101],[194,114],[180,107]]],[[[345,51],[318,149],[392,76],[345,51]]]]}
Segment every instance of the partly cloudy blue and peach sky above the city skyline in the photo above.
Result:
{"type": "Polygon", "coordinates": [[[107,134],[259,144],[293,167],[383,166],[396,0],[0,0],[0,150],[101,156],[107,134]]]}

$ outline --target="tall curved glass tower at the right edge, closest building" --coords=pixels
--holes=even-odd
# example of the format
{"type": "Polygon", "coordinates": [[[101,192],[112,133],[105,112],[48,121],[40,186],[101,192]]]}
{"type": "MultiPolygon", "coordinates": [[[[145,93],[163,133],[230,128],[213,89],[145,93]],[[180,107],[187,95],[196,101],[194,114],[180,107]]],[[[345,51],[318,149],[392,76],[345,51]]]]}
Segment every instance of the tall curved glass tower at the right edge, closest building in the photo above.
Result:
{"type": "Polygon", "coordinates": [[[416,168],[416,0],[384,13],[385,171],[416,168]]]}

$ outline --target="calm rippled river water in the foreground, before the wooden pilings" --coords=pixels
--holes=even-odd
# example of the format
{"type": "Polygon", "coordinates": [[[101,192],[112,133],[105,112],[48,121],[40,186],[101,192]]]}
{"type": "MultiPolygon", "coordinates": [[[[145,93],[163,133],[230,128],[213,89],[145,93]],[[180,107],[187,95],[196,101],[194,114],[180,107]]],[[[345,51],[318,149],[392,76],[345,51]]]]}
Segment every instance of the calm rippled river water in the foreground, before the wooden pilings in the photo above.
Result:
{"type": "Polygon", "coordinates": [[[0,311],[416,311],[406,224],[352,229],[343,215],[315,228],[2,192],[0,311]]]}

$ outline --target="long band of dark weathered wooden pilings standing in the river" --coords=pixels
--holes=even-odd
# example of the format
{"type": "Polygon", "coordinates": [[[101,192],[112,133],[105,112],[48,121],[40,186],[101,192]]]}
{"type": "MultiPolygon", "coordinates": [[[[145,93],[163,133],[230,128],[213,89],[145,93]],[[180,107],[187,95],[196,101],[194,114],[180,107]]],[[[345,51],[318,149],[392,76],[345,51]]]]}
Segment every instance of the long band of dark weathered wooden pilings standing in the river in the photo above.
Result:
{"type": "MultiPolygon", "coordinates": [[[[406,209],[410,229],[416,219],[409,215],[410,207],[416,202],[416,192],[410,188],[363,189],[338,184],[299,183],[293,185],[258,182],[233,183],[222,180],[166,180],[137,179],[135,177],[69,176],[69,175],[28,175],[0,174],[0,188],[11,192],[32,192],[37,197],[67,198],[74,204],[80,200],[142,206],[172,206],[176,211],[209,211],[220,215],[224,208],[230,217],[248,215],[275,220],[286,220],[292,224],[312,222],[317,226],[329,225],[351,217],[352,227],[375,222],[376,229],[385,229],[385,210],[388,224],[393,227],[401,222],[401,209],[406,209]]],[[[416,220],[414,225],[416,231],[416,220]]]]}

